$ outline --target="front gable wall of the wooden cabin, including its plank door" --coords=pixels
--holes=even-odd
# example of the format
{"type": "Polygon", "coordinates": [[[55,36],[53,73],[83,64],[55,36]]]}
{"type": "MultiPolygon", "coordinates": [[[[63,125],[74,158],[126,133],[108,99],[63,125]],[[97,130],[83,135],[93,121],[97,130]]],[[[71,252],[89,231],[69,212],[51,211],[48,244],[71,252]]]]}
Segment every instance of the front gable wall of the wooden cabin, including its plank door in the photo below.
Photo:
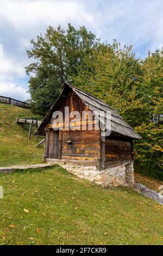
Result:
{"type": "MultiPolygon", "coordinates": [[[[82,112],[90,111],[90,109],[83,103],[76,93],[72,90],[67,92],[67,95],[63,97],[61,104],[58,106],[57,111],[61,111],[64,114],[64,125],[67,126],[69,114],[65,115],[65,107],[70,108],[70,112],[78,111],[80,113],[80,119],[82,120],[82,112]]],[[[87,117],[85,117],[86,119],[87,117]]],[[[50,123],[46,125],[46,157],[56,158],[55,150],[52,148],[55,146],[54,130],[52,129],[53,118],[50,123]],[[49,139],[51,138],[51,139],[49,139]]],[[[70,120],[71,121],[71,120],[70,120]]],[[[79,130],[81,121],[74,123],[74,130],[59,131],[59,149],[58,158],[65,160],[99,160],[100,158],[100,133],[95,130],[95,120],[92,123],[84,125],[85,130],[79,130]],[[93,130],[89,130],[91,125],[93,130]]],[[[85,124],[85,123],[84,123],[85,124]]]]}

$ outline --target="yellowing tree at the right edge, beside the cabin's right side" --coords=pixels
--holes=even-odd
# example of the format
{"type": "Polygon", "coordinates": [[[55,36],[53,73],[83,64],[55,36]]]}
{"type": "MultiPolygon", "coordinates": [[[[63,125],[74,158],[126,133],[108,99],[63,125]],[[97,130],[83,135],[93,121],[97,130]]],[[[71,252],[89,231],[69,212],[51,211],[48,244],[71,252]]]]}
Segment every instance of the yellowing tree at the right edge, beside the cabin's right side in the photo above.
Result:
{"type": "Polygon", "coordinates": [[[135,160],[140,173],[163,180],[163,52],[149,52],[142,60],[142,88],[148,120],[136,127],[143,140],[135,143],[135,160]]]}

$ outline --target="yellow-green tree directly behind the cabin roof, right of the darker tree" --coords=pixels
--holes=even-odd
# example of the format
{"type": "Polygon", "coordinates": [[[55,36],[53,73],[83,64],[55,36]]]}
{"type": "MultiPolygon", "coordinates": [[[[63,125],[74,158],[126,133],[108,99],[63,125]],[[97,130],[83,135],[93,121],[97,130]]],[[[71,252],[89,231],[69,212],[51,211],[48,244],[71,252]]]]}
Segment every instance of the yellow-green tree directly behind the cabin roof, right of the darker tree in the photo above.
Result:
{"type": "Polygon", "coordinates": [[[142,102],[141,66],[131,46],[100,45],[84,58],[73,84],[117,110],[131,126],[147,118],[142,102]]]}

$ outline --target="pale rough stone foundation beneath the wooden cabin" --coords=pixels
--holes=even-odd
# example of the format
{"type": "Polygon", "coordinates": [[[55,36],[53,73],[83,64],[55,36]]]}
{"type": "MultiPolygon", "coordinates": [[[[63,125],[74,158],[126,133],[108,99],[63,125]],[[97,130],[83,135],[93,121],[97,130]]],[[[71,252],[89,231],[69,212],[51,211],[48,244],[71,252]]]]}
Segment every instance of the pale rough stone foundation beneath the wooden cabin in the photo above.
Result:
{"type": "Polygon", "coordinates": [[[95,182],[103,187],[134,186],[133,162],[110,164],[110,167],[104,170],[99,170],[98,164],[90,162],[86,164],[86,161],[83,164],[79,164],[79,161],[66,160],[55,162],[79,178],[95,182]]]}

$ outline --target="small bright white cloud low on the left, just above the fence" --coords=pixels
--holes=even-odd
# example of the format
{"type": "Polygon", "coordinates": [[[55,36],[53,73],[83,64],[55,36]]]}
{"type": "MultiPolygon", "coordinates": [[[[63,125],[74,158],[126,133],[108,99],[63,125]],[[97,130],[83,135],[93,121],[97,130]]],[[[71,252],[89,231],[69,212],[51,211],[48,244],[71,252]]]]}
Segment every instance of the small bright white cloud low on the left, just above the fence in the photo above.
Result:
{"type": "Polygon", "coordinates": [[[0,80],[0,95],[21,101],[29,99],[29,94],[26,89],[20,86],[17,87],[14,83],[3,80],[0,80]]]}

